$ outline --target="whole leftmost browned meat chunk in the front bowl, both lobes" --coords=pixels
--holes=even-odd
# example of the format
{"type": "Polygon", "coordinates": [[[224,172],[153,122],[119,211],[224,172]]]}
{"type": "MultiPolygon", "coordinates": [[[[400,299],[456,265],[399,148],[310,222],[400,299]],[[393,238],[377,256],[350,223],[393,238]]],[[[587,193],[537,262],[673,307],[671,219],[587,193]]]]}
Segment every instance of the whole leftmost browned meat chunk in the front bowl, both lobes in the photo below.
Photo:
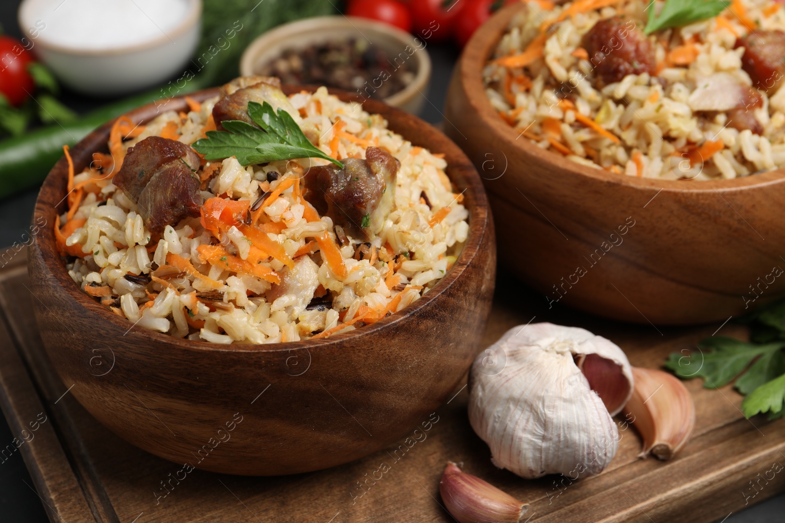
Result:
{"type": "Polygon", "coordinates": [[[131,147],[113,180],[137,202],[149,231],[160,233],[186,216],[199,216],[199,155],[188,145],[149,136],[131,147]]]}

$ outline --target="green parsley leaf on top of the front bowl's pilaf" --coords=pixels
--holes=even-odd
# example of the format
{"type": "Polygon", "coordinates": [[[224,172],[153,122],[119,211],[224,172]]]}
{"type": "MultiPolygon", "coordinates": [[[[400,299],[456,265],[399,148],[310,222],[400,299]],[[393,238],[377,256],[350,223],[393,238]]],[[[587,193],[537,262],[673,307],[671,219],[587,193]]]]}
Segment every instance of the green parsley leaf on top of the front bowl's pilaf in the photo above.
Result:
{"type": "Polygon", "coordinates": [[[270,104],[248,102],[248,116],[261,129],[239,120],[221,122],[225,131],[207,131],[207,137],[193,147],[206,160],[234,156],[240,165],[276,162],[294,158],[324,158],[343,168],[343,164],[315,147],[287,111],[270,104]]]}

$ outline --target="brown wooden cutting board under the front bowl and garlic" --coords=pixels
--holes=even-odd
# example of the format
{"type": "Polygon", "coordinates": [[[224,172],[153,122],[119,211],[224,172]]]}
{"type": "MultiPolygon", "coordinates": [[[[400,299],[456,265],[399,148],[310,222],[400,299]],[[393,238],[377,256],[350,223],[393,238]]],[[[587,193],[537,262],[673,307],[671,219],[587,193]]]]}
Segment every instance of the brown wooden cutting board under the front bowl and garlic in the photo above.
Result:
{"type": "MultiPolygon", "coordinates": [[[[52,521],[454,521],[439,496],[447,460],[531,503],[527,521],[719,521],[785,490],[785,474],[775,473],[781,469],[775,463],[785,463],[785,419],[744,419],[731,387],[707,390],[699,380],[687,382],[696,432],[676,459],[638,459],[641,440],[628,428],[608,470],[580,481],[527,481],[493,467],[487,446],[469,427],[465,388],[422,420],[429,430],[413,430],[408,441],[341,467],[276,478],[186,474],[102,427],[68,394],[36,332],[31,306],[38,298],[28,289],[25,259],[20,252],[0,269],[0,400],[13,434],[30,440],[16,452],[52,521]],[[22,433],[30,427],[37,430],[22,433]]],[[[651,367],[719,328],[745,335],[732,323],[655,328],[549,310],[542,296],[502,271],[485,344],[528,321],[590,329],[618,343],[633,365],[651,367]]],[[[150,417],[156,423],[155,412],[150,417]]]]}

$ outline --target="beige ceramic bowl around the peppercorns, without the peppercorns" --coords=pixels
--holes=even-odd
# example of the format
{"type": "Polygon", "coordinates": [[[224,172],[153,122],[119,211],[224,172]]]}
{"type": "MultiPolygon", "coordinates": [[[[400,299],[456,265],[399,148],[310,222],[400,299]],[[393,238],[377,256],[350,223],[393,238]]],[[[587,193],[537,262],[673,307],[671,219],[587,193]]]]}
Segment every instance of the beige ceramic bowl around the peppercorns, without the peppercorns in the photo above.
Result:
{"type": "MultiPolygon", "coordinates": [[[[347,38],[367,39],[384,49],[393,60],[407,60],[414,67],[414,80],[398,93],[385,98],[385,104],[417,114],[425,104],[425,93],[431,79],[431,59],[426,42],[406,31],[355,16],[316,16],[283,24],[251,42],[240,60],[240,74],[258,74],[259,68],[275,60],[287,49],[305,49],[347,38]]],[[[377,86],[378,87],[378,86],[377,86]]],[[[370,91],[367,91],[370,93],[370,91]]],[[[357,93],[363,95],[363,92],[357,93]]]]}

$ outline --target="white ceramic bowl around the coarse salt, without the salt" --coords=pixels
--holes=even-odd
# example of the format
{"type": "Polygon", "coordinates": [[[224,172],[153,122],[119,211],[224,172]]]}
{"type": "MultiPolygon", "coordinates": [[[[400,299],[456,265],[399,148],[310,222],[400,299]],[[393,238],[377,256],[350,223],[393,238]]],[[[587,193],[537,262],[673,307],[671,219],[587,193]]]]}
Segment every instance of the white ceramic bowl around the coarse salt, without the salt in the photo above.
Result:
{"type": "MultiPolygon", "coordinates": [[[[64,85],[79,93],[118,96],[158,85],[183,71],[199,44],[202,16],[202,0],[186,2],[187,15],[165,34],[112,49],[82,49],[47,40],[46,22],[53,11],[48,0],[24,0],[19,25],[33,53],[64,85]]],[[[122,21],[117,24],[122,31],[122,21]]],[[[89,38],[89,33],[84,36],[89,38]]]]}

